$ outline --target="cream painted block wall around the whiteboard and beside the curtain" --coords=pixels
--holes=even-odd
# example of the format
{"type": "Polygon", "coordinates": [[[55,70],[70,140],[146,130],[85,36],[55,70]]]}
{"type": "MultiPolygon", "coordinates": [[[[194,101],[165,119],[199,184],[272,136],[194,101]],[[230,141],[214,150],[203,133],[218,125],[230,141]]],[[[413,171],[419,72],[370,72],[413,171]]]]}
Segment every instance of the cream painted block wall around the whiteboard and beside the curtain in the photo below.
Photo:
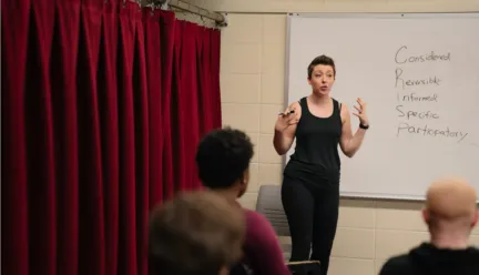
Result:
{"type": "MultiPolygon", "coordinates": [[[[194,2],[205,8],[230,12],[230,26],[222,33],[223,123],[245,130],[255,144],[251,185],[248,193],[241,200],[242,204],[249,208],[256,205],[261,185],[282,182],[282,159],[272,145],[276,113],[285,105],[286,17],[278,13],[479,10],[478,0],[196,0],[194,2]],[[272,14],[273,12],[276,14],[272,14]]],[[[386,258],[428,240],[426,226],[420,217],[420,203],[411,202],[342,200],[330,274],[377,274],[386,258]]],[[[479,230],[476,230],[475,234],[471,242],[479,245],[479,230]]]]}

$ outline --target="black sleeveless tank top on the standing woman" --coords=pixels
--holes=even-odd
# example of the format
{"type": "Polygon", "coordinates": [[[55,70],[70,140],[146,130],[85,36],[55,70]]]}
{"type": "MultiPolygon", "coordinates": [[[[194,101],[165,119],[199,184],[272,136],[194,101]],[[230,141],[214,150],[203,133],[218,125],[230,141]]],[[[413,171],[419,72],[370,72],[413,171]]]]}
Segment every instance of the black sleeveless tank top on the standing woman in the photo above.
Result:
{"type": "Polygon", "coordinates": [[[318,118],[309,112],[306,98],[300,99],[302,116],[296,126],[296,147],[284,174],[303,182],[337,186],[340,177],[338,153],[343,122],[340,105],[333,99],[333,114],[318,118]]]}

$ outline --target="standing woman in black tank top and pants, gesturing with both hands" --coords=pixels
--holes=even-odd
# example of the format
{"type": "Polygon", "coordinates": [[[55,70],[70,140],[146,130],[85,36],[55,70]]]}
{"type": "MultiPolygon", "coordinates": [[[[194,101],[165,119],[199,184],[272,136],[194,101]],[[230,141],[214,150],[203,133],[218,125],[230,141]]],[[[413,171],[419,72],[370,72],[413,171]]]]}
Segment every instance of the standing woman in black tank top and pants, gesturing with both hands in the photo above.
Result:
{"type": "Polygon", "coordinates": [[[363,143],[369,121],[366,103],[358,99],[354,114],[360,124],[353,135],[348,108],[330,96],[336,77],[333,59],[315,58],[307,73],[313,92],[278,116],[274,147],[283,155],[296,139],[282,186],[293,244],[291,261],[319,261],[322,275],[326,275],[339,211],[338,145],[351,157],[363,143]]]}

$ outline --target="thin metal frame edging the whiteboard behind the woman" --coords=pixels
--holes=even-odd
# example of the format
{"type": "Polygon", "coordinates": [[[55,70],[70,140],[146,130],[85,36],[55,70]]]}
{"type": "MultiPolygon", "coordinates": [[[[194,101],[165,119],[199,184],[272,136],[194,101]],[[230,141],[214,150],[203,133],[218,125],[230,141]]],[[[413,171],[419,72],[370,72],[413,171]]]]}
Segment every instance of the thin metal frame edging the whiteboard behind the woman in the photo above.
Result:
{"type": "MultiPolygon", "coordinates": [[[[285,47],[285,80],[284,80],[284,109],[289,104],[289,50],[291,50],[291,24],[293,18],[479,18],[479,11],[465,12],[289,12],[286,14],[286,47],[285,47]]],[[[295,139],[296,140],[296,139],[295,139]]],[[[294,144],[293,144],[294,145],[294,144]]],[[[287,164],[287,152],[282,156],[283,169],[287,164]]],[[[340,187],[340,185],[339,185],[340,187]]],[[[424,202],[426,194],[421,196],[399,195],[399,194],[364,194],[356,192],[342,192],[339,196],[343,198],[370,198],[370,200],[395,200],[395,201],[412,201],[424,202]]],[[[479,203],[479,197],[478,197],[479,203]]]]}

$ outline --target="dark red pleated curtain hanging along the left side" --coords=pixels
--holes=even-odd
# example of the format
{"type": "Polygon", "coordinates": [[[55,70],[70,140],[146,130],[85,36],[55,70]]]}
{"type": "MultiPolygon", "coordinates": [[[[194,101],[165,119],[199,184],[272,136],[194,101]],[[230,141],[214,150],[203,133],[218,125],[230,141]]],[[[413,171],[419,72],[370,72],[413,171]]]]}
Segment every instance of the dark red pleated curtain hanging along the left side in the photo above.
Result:
{"type": "Polygon", "coordinates": [[[2,1],[2,273],[146,275],[149,210],[200,187],[220,31],[123,0],[2,1]]]}

